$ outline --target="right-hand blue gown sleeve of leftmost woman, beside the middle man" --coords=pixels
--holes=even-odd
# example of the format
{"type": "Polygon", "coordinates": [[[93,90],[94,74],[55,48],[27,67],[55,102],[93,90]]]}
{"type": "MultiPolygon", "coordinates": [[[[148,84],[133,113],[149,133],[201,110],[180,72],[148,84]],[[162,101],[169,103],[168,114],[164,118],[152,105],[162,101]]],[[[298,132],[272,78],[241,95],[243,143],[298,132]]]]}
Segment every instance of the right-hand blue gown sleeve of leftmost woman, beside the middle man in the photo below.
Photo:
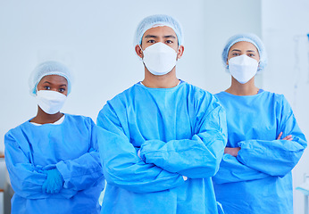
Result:
{"type": "Polygon", "coordinates": [[[64,188],[80,191],[96,185],[97,182],[104,183],[97,145],[101,137],[100,130],[92,119],[89,120],[90,144],[88,152],[77,159],[59,161],[56,164],[56,168],[63,176],[64,188]]]}

